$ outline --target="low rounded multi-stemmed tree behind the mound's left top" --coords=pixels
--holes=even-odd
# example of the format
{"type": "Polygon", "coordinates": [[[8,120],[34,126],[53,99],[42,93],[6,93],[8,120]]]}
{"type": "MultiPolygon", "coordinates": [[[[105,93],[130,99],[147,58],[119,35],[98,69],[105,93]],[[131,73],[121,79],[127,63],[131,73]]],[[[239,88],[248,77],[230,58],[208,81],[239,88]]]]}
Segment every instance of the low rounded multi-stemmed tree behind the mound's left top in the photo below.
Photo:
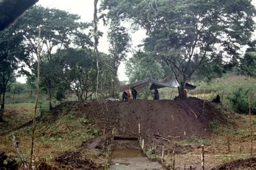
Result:
{"type": "Polygon", "coordinates": [[[79,101],[87,100],[96,91],[97,68],[90,49],[69,48],[63,52],[64,80],[79,101]]]}

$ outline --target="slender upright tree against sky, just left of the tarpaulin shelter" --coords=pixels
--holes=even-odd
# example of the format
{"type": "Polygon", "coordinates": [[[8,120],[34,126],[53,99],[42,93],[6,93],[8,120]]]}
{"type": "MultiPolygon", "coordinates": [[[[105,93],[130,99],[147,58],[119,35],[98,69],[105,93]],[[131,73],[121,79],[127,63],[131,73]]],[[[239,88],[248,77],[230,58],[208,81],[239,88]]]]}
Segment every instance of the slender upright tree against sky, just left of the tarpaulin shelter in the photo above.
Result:
{"type": "Polygon", "coordinates": [[[113,68],[113,89],[112,97],[116,96],[116,83],[118,82],[117,70],[122,61],[126,59],[129,48],[131,47],[130,35],[126,32],[125,27],[120,25],[117,18],[111,20],[110,31],[107,34],[110,42],[109,52],[112,56],[111,67],[113,68]]]}

